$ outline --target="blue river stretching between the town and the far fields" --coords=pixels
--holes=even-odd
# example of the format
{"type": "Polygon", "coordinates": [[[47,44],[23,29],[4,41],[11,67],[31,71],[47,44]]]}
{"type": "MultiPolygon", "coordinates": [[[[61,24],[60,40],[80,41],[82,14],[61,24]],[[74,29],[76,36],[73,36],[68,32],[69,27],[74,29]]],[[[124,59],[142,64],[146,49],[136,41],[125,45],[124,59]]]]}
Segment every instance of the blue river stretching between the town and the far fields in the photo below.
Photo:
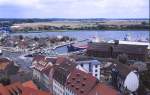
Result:
{"type": "Polygon", "coordinates": [[[24,35],[24,36],[39,36],[39,37],[53,37],[53,36],[69,36],[76,38],[78,40],[83,40],[83,39],[90,39],[95,36],[100,37],[100,39],[103,40],[123,40],[126,35],[130,35],[132,40],[148,40],[148,31],[86,31],[86,30],[79,30],[79,31],[73,31],[73,30],[67,30],[63,32],[40,32],[40,31],[33,31],[33,32],[18,32],[18,33],[11,33],[11,35],[24,35]]]}

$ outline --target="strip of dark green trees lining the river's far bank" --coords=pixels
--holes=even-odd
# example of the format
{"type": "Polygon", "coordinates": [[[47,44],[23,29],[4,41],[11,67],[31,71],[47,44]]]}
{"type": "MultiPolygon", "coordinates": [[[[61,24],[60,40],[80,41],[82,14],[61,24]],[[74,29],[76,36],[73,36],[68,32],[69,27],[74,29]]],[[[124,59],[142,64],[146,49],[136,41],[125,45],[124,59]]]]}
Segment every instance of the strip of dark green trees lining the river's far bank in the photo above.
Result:
{"type": "Polygon", "coordinates": [[[72,28],[70,26],[38,26],[38,27],[24,27],[20,29],[12,29],[12,31],[52,31],[52,30],[149,30],[149,25],[97,25],[97,26],[81,26],[72,28]]]}

